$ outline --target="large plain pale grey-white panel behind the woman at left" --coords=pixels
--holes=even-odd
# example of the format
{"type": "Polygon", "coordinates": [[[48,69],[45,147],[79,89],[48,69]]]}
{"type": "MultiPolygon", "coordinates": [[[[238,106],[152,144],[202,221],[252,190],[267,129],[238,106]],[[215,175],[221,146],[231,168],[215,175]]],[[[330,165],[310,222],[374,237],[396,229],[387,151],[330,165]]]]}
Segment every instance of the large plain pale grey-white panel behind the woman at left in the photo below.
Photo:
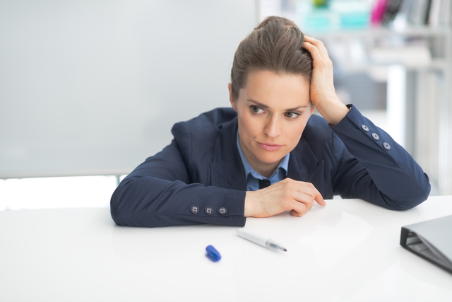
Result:
{"type": "Polygon", "coordinates": [[[0,0],[0,178],[129,173],[229,106],[255,1],[0,0]]]}

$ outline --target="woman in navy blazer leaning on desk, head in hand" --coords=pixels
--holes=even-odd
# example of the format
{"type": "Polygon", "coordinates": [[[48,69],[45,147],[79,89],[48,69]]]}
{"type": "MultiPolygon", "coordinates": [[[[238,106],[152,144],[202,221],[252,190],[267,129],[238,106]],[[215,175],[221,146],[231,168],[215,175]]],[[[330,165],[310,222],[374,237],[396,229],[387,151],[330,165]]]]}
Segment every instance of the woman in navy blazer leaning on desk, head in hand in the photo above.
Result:
{"type": "Polygon", "coordinates": [[[117,224],[244,226],[248,216],[303,216],[334,194],[396,210],[427,199],[427,175],[340,102],[323,43],[291,21],[270,17],[248,35],[231,81],[232,108],[174,124],[172,143],[119,184],[117,224]]]}

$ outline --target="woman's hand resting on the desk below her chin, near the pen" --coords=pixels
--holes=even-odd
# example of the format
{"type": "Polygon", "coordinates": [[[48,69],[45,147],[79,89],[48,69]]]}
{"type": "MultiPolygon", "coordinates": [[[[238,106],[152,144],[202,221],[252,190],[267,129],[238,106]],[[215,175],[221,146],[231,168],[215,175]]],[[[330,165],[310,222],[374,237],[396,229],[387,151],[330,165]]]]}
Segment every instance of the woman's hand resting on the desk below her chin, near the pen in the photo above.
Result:
{"type": "Polygon", "coordinates": [[[247,191],[245,217],[270,217],[290,210],[290,215],[301,217],[312,208],[314,201],[325,207],[320,192],[310,182],[286,178],[265,189],[247,191]]]}

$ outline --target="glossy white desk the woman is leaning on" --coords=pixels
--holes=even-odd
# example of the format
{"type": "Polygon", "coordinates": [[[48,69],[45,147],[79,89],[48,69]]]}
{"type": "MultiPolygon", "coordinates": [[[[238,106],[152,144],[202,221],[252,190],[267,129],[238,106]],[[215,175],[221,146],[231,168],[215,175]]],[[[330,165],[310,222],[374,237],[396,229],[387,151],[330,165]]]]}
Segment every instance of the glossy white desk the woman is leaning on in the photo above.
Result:
{"type": "Polygon", "coordinates": [[[285,253],[230,226],[121,227],[109,209],[3,211],[0,301],[452,301],[452,274],[399,244],[401,226],[452,214],[452,196],[400,212],[327,204],[302,218],[247,219],[285,253]]]}

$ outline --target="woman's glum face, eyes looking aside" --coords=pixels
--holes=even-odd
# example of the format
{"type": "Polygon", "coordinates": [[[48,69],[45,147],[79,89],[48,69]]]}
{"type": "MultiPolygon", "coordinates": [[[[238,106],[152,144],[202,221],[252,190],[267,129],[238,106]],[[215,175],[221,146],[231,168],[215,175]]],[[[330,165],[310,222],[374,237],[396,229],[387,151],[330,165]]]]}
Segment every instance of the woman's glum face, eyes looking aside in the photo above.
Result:
{"type": "Polygon", "coordinates": [[[281,159],[297,146],[314,106],[309,99],[309,81],[304,76],[252,71],[237,100],[239,141],[251,166],[270,176],[281,159]]]}

